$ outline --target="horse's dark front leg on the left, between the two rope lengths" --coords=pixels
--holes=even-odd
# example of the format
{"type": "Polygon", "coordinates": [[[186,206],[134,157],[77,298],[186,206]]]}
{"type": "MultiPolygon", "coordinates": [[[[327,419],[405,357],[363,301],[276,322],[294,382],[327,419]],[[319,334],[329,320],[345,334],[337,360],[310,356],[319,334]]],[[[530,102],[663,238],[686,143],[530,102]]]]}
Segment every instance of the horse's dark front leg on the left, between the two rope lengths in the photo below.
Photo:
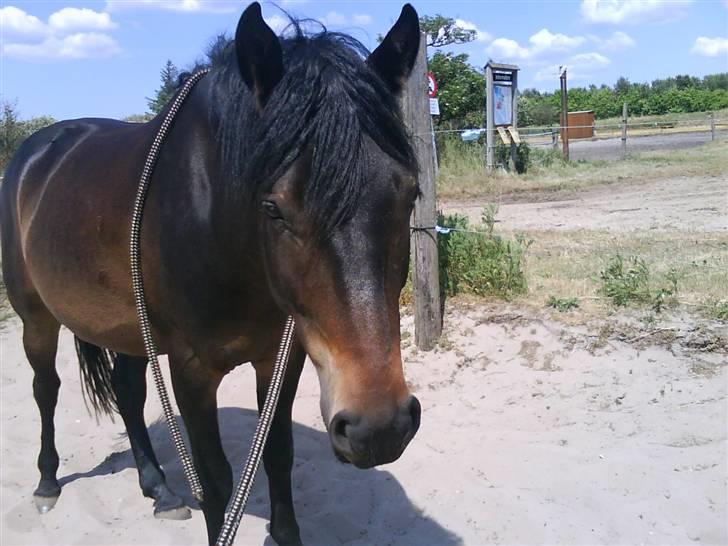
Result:
{"type": "Polygon", "coordinates": [[[217,388],[224,374],[203,365],[196,356],[180,359],[172,355],[170,372],[202,485],[200,507],[205,515],[207,538],[214,544],[233,488],[233,473],[222,449],[217,421],[217,388]]]}

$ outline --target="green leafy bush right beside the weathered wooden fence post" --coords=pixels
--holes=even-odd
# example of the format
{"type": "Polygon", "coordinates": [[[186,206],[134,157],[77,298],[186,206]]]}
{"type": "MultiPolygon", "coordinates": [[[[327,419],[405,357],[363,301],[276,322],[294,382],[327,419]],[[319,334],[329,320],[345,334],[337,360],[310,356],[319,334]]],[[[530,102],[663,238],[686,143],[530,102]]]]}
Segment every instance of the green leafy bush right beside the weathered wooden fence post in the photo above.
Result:
{"type": "Polygon", "coordinates": [[[493,233],[496,206],[487,207],[482,224],[467,217],[438,215],[438,225],[464,231],[438,236],[440,285],[446,296],[474,294],[510,299],[526,291],[524,255],[532,241],[506,240],[493,233]]]}

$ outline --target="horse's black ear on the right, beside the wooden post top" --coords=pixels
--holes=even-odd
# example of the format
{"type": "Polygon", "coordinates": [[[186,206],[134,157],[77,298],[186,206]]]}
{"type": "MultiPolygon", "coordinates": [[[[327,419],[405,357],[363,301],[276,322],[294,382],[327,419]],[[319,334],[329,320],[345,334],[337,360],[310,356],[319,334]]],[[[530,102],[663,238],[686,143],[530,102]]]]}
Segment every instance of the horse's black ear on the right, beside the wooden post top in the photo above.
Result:
{"type": "Polygon", "coordinates": [[[369,55],[367,63],[399,94],[417,59],[420,48],[420,21],[410,4],[405,4],[399,19],[369,55]]]}

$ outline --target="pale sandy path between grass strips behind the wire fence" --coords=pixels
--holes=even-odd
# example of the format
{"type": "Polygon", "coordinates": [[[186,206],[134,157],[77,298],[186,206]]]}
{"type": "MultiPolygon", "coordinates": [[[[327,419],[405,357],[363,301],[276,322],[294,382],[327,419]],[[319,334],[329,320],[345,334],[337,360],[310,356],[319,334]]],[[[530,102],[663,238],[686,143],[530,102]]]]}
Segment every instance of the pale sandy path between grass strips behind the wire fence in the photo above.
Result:
{"type": "MultiPolygon", "coordinates": [[[[728,233],[728,173],[724,177],[686,176],[518,199],[500,205],[499,229],[728,233]]],[[[446,214],[467,214],[472,222],[478,223],[483,205],[454,201],[443,203],[442,209],[446,214]]]]}

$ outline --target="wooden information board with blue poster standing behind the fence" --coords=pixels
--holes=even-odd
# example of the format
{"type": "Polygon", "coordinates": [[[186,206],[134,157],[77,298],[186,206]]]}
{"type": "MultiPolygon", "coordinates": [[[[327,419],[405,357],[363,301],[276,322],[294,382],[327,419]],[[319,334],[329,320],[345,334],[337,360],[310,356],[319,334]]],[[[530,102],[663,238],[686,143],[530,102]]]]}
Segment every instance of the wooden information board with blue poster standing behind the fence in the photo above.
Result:
{"type": "Polygon", "coordinates": [[[485,65],[485,165],[495,168],[496,131],[511,146],[515,159],[518,138],[518,70],[516,65],[489,61],[485,65]]]}

